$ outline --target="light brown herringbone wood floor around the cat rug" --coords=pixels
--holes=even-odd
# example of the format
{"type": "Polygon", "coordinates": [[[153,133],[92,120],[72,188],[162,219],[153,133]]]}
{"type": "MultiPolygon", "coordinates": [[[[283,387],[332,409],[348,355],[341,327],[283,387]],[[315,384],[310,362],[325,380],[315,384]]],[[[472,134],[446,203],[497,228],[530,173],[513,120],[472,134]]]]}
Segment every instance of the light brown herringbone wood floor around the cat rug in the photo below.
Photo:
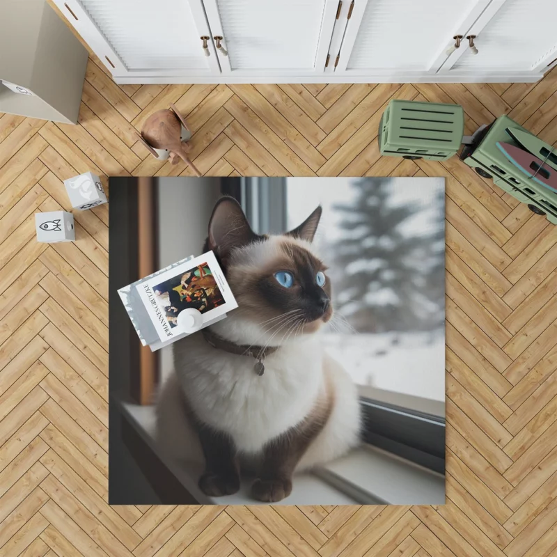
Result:
{"type": "Polygon", "coordinates": [[[460,103],[467,132],[510,113],[554,143],[556,84],[118,87],[92,57],[79,125],[0,115],[0,554],[557,554],[557,228],[456,158],[377,147],[391,98],[460,103]],[[169,102],[207,175],[446,177],[446,505],[107,505],[107,206],[52,246],[33,213],[69,209],[61,180],[88,170],[189,174],[134,136],[169,102]]]}

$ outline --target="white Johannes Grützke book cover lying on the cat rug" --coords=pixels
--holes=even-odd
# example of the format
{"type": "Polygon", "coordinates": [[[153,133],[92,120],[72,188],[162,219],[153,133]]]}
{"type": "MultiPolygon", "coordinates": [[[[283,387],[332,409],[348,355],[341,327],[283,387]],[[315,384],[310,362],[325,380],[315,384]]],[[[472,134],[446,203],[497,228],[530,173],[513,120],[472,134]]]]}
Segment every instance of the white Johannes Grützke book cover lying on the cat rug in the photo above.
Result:
{"type": "Polygon", "coordinates": [[[185,309],[199,311],[205,327],[238,306],[212,251],[143,281],[136,289],[163,342],[186,332],[180,317],[185,309]]]}

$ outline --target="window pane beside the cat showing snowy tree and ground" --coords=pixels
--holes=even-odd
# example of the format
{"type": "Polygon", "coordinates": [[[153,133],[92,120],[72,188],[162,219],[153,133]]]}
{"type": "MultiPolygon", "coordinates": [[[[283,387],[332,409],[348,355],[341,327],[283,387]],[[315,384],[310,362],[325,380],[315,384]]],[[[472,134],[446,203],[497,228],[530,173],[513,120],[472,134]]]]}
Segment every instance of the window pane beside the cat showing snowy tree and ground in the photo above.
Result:
{"type": "Polygon", "coordinates": [[[288,229],[319,204],[314,243],[337,315],[329,351],[363,395],[371,387],[444,401],[443,180],[286,179],[288,229]]]}

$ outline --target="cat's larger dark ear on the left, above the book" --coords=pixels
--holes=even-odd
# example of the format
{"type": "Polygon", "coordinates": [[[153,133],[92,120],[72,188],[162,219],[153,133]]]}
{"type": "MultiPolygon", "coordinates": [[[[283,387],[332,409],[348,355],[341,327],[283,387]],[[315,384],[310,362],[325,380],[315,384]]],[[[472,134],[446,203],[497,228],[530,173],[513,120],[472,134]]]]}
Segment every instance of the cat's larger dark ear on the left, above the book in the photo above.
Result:
{"type": "Polygon", "coordinates": [[[233,197],[222,197],[217,201],[209,220],[208,249],[226,258],[232,249],[251,244],[258,238],[251,230],[240,203],[233,197]]]}

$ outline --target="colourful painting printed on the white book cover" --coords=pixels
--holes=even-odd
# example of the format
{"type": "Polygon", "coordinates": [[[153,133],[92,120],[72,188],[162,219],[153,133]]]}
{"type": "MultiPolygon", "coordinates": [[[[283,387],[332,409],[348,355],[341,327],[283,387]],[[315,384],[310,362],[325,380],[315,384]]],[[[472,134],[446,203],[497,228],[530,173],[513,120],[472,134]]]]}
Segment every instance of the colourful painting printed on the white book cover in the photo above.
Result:
{"type": "Polygon", "coordinates": [[[166,320],[171,327],[178,325],[178,314],[186,308],[205,313],[225,303],[207,263],[168,278],[157,284],[153,291],[159,305],[164,308],[166,320]]]}

